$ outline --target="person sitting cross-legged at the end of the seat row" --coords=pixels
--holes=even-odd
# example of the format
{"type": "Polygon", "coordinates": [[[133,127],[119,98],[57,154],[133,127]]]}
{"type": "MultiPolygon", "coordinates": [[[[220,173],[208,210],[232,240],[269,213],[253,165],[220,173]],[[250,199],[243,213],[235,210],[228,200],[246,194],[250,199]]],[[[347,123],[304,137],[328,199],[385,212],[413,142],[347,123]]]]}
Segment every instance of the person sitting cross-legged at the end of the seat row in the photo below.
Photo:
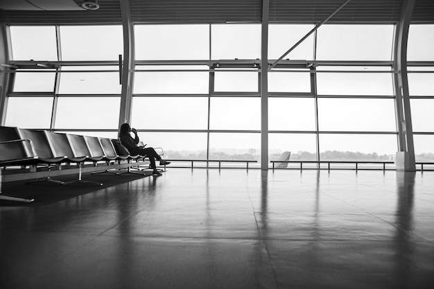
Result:
{"type": "Polygon", "coordinates": [[[150,161],[150,167],[153,168],[153,174],[161,175],[155,166],[155,159],[159,160],[160,166],[170,164],[170,161],[162,159],[153,148],[145,148],[144,146],[138,146],[139,137],[137,136],[137,130],[131,128],[128,123],[123,123],[119,130],[119,140],[127,148],[132,155],[147,155],[150,161]],[[130,132],[134,133],[134,139],[131,137],[130,132]]]}

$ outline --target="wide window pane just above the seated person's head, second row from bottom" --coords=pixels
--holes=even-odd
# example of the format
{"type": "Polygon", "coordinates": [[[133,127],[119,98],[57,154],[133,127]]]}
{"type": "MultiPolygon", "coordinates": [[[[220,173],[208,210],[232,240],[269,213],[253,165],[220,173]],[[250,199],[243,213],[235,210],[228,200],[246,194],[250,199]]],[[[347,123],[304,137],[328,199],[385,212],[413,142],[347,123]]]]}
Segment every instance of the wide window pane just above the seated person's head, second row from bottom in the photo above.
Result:
{"type": "Polygon", "coordinates": [[[132,123],[148,130],[206,130],[208,98],[134,97],[132,123]]]}

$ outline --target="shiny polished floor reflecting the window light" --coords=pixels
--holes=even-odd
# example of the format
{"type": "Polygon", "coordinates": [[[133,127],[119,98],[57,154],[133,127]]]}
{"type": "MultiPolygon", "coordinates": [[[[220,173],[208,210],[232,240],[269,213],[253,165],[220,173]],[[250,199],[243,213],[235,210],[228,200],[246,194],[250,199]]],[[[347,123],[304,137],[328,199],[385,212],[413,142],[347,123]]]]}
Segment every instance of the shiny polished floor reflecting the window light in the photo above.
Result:
{"type": "Polygon", "coordinates": [[[434,172],[169,168],[94,190],[0,204],[0,288],[433,288],[434,172]]]}

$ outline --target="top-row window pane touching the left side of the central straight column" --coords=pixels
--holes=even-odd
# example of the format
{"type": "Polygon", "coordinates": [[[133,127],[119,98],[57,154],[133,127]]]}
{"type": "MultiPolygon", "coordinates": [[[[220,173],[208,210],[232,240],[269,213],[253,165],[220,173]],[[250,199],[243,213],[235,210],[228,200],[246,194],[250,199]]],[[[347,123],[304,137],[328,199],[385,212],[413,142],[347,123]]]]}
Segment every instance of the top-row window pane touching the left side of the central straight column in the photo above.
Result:
{"type": "Polygon", "coordinates": [[[257,59],[261,57],[261,25],[211,25],[211,59],[257,59]]]}

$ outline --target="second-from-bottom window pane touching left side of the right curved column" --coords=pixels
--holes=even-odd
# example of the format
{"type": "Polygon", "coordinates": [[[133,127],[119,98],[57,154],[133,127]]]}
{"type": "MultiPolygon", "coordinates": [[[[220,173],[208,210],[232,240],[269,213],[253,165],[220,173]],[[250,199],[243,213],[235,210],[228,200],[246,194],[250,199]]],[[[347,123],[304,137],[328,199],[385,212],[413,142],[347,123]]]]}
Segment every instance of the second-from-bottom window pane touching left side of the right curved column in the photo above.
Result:
{"type": "Polygon", "coordinates": [[[320,130],[395,132],[393,99],[318,99],[320,130]]]}

